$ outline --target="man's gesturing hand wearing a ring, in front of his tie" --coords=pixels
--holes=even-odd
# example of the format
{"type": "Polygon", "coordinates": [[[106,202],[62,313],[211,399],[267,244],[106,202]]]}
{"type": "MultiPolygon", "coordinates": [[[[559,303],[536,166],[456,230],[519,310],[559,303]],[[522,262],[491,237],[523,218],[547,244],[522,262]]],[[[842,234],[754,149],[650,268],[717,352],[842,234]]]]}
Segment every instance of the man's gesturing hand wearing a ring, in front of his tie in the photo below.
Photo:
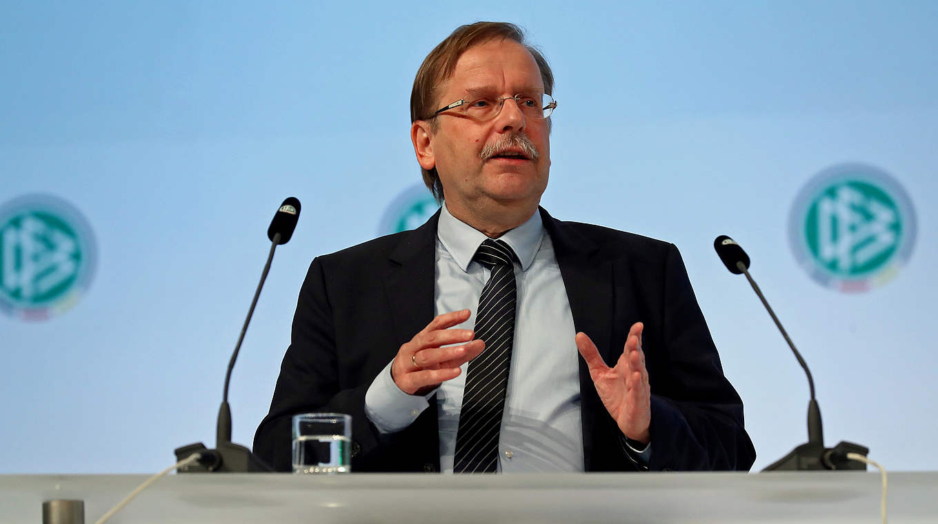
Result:
{"type": "Polygon", "coordinates": [[[468,329],[448,329],[469,320],[469,309],[437,315],[410,342],[401,346],[391,364],[391,378],[408,395],[426,395],[433,388],[460,376],[463,363],[477,357],[485,342],[473,340],[468,329]],[[460,346],[447,346],[459,344],[460,346]]]}

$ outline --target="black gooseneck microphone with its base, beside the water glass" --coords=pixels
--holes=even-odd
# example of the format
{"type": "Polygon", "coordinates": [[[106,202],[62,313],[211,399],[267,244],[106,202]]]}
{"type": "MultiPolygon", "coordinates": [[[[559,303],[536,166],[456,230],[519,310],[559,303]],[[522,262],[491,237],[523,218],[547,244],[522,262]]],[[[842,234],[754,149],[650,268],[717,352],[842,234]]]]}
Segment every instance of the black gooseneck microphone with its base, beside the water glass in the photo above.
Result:
{"type": "Polygon", "coordinates": [[[225,387],[221,397],[221,406],[219,407],[219,420],[216,425],[215,448],[208,450],[202,442],[189,444],[176,448],[175,456],[178,460],[183,460],[193,453],[201,453],[202,457],[196,463],[190,463],[189,466],[181,468],[178,472],[273,472],[273,468],[265,464],[263,460],[254,457],[250,450],[240,444],[232,441],[232,411],[228,405],[228,386],[231,382],[234,362],[237,360],[237,354],[241,351],[241,343],[244,341],[244,335],[248,332],[250,318],[254,314],[254,307],[257,306],[257,299],[261,296],[261,290],[264,288],[264,282],[267,279],[267,273],[270,272],[270,262],[274,259],[274,250],[277,246],[286,244],[293,236],[296,229],[296,221],[299,220],[299,201],[294,197],[289,197],[280,204],[273,220],[270,221],[270,227],[267,228],[267,238],[270,239],[270,252],[267,253],[267,262],[264,265],[264,271],[261,273],[261,281],[257,284],[257,290],[254,292],[254,298],[250,301],[248,317],[241,326],[241,335],[238,336],[237,343],[234,345],[232,358],[228,362],[228,372],[225,373],[225,387]]]}

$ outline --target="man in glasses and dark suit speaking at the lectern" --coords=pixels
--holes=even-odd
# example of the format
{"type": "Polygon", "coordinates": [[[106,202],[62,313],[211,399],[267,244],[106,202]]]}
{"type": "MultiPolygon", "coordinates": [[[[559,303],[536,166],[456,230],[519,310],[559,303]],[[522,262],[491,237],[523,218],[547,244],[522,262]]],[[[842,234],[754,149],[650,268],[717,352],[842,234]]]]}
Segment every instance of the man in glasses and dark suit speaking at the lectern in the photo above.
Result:
{"type": "Polygon", "coordinates": [[[290,417],[343,412],[357,472],[749,470],[677,249],[538,208],[552,87],[512,24],[428,55],[411,138],[444,205],[312,262],[256,454],[289,470],[290,417]]]}

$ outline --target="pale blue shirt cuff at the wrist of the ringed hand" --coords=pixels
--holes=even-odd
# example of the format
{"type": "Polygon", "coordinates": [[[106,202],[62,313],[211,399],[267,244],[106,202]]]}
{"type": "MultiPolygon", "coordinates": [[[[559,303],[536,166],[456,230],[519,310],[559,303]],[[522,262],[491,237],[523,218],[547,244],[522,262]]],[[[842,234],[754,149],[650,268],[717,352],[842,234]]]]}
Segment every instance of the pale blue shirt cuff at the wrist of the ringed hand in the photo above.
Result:
{"type": "Polygon", "coordinates": [[[430,406],[433,389],[427,395],[407,395],[391,378],[391,364],[378,373],[365,393],[365,415],[382,434],[396,433],[410,426],[430,406]]]}

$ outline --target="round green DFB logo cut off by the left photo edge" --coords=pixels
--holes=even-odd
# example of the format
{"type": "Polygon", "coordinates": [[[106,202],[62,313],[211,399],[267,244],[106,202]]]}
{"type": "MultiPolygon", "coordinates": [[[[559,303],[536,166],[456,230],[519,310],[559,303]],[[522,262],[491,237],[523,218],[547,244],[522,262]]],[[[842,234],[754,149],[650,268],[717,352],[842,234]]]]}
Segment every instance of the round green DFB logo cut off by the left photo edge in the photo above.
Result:
{"type": "Polygon", "coordinates": [[[0,309],[46,320],[75,305],[94,274],[88,222],[68,202],[26,195],[0,206],[0,309]]]}

